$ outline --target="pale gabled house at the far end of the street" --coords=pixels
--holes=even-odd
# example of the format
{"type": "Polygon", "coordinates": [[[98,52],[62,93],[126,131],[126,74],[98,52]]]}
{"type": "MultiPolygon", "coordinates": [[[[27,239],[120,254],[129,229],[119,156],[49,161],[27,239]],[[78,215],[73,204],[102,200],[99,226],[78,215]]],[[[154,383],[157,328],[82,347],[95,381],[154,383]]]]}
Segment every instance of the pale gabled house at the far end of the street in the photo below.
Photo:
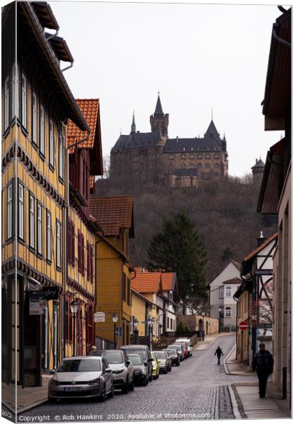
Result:
{"type": "Polygon", "coordinates": [[[240,264],[232,259],[209,283],[210,316],[219,320],[219,326],[236,325],[236,302],[233,299],[240,285],[240,264]]]}

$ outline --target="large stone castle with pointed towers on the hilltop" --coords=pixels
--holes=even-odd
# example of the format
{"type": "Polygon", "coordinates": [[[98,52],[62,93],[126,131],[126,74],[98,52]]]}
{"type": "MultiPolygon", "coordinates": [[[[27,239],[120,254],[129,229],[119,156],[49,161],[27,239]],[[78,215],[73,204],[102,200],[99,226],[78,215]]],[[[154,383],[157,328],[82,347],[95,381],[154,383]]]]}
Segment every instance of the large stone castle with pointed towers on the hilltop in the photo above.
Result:
{"type": "Polygon", "coordinates": [[[133,182],[158,182],[171,187],[196,187],[198,182],[228,175],[226,138],[211,120],[202,138],[168,136],[168,114],[158,97],[150,117],[151,132],[136,131],[135,116],[129,135],[121,135],[111,150],[110,177],[133,182]]]}

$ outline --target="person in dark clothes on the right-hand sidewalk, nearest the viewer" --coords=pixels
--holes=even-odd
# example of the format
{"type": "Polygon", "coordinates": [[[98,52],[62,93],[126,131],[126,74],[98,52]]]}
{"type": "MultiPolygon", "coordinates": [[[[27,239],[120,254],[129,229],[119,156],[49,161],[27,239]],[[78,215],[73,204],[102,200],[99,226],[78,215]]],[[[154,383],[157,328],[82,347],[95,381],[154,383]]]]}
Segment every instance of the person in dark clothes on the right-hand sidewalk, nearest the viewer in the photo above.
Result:
{"type": "Polygon", "coordinates": [[[265,344],[259,344],[259,352],[254,354],[253,371],[257,371],[259,379],[259,397],[265,397],[266,384],[269,375],[273,373],[273,355],[265,350],[265,344]]]}

